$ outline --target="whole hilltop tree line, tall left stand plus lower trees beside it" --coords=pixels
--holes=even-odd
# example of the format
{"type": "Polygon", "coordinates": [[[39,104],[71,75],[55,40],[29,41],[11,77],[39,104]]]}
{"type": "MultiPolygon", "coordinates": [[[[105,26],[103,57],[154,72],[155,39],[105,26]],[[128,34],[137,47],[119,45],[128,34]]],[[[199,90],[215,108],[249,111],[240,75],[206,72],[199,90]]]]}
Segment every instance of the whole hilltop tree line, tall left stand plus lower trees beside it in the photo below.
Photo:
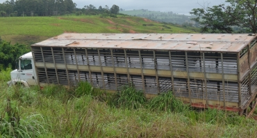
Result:
{"type": "MultiPolygon", "coordinates": [[[[121,9],[123,10],[123,9],[121,9]]],[[[93,5],[76,8],[72,0],[10,0],[0,3],[1,17],[24,17],[24,16],[51,16],[60,14],[118,14],[119,6],[93,5]]]]}

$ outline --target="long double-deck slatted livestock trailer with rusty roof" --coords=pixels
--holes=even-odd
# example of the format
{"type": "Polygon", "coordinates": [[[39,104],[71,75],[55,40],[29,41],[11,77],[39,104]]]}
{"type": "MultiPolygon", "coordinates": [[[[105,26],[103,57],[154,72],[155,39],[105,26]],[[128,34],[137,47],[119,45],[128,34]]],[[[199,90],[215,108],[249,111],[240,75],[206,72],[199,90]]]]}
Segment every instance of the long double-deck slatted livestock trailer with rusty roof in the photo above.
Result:
{"type": "Polygon", "coordinates": [[[172,90],[194,107],[240,112],[256,98],[254,35],[65,33],[31,50],[40,86],[129,83],[146,97],[172,90]]]}

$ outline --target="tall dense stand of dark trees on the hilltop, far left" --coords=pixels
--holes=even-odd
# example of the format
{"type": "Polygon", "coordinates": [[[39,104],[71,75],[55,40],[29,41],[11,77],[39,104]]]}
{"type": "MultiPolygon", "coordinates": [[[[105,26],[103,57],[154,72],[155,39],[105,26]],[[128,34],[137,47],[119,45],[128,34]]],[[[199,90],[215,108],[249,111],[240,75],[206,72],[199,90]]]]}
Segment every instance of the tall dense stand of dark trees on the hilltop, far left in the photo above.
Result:
{"type": "Polygon", "coordinates": [[[1,17],[51,16],[72,13],[76,3],[72,0],[10,0],[0,3],[1,17]]]}

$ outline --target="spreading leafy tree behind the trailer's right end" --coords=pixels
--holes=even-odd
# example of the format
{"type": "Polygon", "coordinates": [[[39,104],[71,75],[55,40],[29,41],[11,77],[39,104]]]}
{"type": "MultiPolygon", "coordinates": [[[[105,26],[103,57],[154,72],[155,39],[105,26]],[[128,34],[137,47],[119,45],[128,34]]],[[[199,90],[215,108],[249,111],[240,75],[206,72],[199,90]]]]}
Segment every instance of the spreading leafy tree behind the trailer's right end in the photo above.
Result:
{"type": "Polygon", "coordinates": [[[257,1],[226,0],[227,4],[207,8],[194,8],[190,14],[201,26],[202,32],[233,32],[233,27],[245,28],[256,33],[257,1]]]}

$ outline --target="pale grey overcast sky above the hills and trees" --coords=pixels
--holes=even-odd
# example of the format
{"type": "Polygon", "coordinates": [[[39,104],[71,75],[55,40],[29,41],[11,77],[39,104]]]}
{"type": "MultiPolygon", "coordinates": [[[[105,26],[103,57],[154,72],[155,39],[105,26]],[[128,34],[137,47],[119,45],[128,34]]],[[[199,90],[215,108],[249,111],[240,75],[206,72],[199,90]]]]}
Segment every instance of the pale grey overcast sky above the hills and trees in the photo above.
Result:
{"type": "MultiPolygon", "coordinates": [[[[0,0],[3,3],[6,0],[0,0]]],[[[125,10],[148,9],[160,12],[175,12],[179,14],[189,14],[192,8],[201,8],[201,6],[215,6],[224,3],[225,0],[73,0],[77,8],[83,8],[90,4],[99,8],[99,6],[108,6],[113,4],[125,10]],[[201,5],[201,6],[200,6],[201,5]]]]}

